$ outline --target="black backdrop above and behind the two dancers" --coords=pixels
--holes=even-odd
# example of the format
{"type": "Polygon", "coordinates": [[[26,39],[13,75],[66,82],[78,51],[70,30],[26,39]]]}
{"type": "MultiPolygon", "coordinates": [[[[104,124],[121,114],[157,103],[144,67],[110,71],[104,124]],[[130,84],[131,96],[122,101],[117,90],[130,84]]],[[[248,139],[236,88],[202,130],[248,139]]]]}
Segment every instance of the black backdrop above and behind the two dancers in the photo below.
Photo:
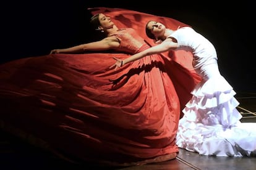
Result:
{"type": "Polygon", "coordinates": [[[214,44],[221,74],[235,91],[256,91],[255,9],[247,1],[225,6],[214,1],[8,1],[1,6],[1,63],[95,40],[88,7],[137,10],[187,23],[214,44]]]}

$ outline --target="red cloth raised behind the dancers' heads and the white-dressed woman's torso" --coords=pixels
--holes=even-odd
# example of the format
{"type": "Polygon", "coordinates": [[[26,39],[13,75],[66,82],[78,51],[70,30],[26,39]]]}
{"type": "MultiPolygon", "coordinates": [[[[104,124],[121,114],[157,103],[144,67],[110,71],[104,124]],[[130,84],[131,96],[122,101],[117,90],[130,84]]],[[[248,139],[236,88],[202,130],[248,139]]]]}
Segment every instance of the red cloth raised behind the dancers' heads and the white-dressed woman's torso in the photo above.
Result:
{"type": "MultiPolygon", "coordinates": [[[[161,22],[166,25],[167,28],[172,30],[177,30],[177,28],[183,26],[189,26],[174,18],[145,14],[134,10],[108,7],[94,7],[89,8],[88,10],[90,10],[93,15],[98,13],[108,15],[119,28],[134,28],[149,46],[156,45],[153,39],[147,37],[145,32],[145,26],[150,20],[161,22]]],[[[200,76],[197,75],[192,67],[193,56],[190,52],[183,50],[165,52],[161,55],[172,61],[168,70],[171,71],[173,79],[176,79],[173,83],[176,86],[176,92],[179,95],[182,110],[191,97],[190,92],[194,89],[194,84],[201,81],[200,76]],[[176,67],[179,68],[176,69],[176,67]]]]}

